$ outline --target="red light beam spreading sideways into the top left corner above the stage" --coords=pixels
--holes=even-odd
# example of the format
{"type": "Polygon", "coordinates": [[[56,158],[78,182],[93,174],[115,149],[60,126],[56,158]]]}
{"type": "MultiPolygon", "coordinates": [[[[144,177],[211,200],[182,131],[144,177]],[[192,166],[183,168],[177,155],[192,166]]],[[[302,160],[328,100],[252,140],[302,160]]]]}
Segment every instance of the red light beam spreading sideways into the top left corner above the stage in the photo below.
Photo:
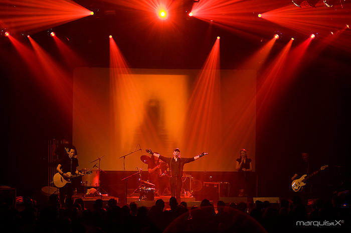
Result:
{"type": "Polygon", "coordinates": [[[14,31],[40,31],[92,12],[73,0],[11,0],[11,4],[0,4],[0,12],[3,23],[14,31]]]}

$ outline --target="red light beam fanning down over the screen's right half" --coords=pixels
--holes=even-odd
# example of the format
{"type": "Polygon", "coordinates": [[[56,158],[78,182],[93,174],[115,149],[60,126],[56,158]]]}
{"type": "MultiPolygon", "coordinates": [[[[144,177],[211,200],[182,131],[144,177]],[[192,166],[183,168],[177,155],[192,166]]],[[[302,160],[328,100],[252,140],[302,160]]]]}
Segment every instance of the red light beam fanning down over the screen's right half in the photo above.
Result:
{"type": "Polygon", "coordinates": [[[183,144],[187,153],[196,154],[196,147],[208,150],[217,146],[220,127],[220,40],[216,39],[197,77],[189,100],[187,126],[183,144]]]}

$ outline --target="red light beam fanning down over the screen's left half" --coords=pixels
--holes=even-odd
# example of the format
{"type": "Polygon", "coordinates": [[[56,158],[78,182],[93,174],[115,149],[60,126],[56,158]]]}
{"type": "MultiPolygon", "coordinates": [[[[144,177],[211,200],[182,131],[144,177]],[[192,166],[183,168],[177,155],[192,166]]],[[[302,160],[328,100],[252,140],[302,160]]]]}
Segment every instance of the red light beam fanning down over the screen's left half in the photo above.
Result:
{"type": "Polygon", "coordinates": [[[115,149],[118,146],[119,150],[129,149],[132,145],[128,142],[133,141],[135,130],[140,130],[140,144],[164,147],[138,94],[127,61],[113,38],[110,38],[110,93],[111,125],[114,127],[111,144],[115,149]]]}

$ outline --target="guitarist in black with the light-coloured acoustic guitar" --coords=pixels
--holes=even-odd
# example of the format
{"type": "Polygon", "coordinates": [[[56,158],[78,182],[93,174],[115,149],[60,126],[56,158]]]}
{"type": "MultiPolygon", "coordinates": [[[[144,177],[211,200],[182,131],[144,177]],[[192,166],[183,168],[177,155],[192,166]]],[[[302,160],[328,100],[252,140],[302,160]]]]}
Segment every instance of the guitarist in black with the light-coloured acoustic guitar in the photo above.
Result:
{"type": "MultiPolygon", "coordinates": [[[[71,172],[71,175],[81,174],[77,170],[77,150],[74,145],[70,143],[61,144],[58,147],[57,152],[60,158],[59,164],[56,167],[57,172],[59,172],[65,179],[70,178],[70,175],[67,172],[71,172]]],[[[62,207],[64,206],[66,197],[72,198],[74,188],[74,182],[67,183],[65,186],[60,187],[60,201],[62,207]]]]}

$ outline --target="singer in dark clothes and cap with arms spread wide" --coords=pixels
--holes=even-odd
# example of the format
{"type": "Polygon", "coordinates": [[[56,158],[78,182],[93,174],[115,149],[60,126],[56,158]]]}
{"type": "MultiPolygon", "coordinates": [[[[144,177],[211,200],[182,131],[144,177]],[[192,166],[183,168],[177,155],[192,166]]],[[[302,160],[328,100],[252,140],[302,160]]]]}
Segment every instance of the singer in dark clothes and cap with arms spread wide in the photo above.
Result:
{"type": "Polygon", "coordinates": [[[206,155],[207,153],[202,152],[201,154],[195,157],[181,158],[181,150],[179,148],[175,148],[173,150],[173,157],[164,157],[159,153],[152,152],[151,149],[146,149],[146,152],[168,163],[169,170],[170,170],[170,178],[169,178],[170,195],[177,198],[178,203],[180,203],[184,164],[195,161],[196,159],[206,155]]]}

